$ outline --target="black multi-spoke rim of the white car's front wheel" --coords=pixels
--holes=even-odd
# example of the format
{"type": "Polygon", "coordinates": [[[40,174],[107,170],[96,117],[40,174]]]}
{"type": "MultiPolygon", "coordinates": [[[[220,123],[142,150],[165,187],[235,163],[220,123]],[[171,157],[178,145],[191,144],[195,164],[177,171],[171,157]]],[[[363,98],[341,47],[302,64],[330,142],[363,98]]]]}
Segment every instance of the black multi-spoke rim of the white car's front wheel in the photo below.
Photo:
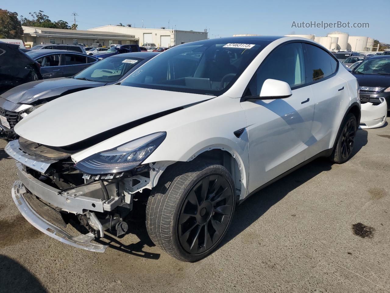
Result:
{"type": "Polygon", "coordinates": [[[201,179],[188,192],[178,219],[179,242],[186,252],[200,254],[223,236],[233,213],[229,182],[220,175],[201,179]]]}

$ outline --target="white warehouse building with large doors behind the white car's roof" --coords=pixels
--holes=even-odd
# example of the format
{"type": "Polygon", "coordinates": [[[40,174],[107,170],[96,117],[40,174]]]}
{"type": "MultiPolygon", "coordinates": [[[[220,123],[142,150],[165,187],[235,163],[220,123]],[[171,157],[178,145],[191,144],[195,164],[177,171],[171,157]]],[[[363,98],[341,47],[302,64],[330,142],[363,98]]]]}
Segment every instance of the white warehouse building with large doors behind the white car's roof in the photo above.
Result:
{"type": "Polygon", "coordinates": [[[158,47],[169,47],[207,39],[206,31],[195,32],[193,30],[170,30],[165,28],[144,29],[140,27],[131,27],[131,25],[128,25],[127,27],[103,25],[89,30],[134,35],[135,38],[139,39],[140,46],[145,43],[154,43],[158,47]]]}

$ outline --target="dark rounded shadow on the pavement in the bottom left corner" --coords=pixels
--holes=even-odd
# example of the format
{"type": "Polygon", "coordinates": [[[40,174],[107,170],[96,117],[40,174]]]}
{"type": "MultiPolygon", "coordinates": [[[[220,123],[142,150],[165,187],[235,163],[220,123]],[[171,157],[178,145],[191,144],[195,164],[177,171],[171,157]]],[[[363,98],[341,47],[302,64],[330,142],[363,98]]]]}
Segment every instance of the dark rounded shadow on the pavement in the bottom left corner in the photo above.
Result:
{"type": "Polygon", "coordinates": [[[20,263],[0,254],[1,293],[45,293],[42,284],[20,263]]]}

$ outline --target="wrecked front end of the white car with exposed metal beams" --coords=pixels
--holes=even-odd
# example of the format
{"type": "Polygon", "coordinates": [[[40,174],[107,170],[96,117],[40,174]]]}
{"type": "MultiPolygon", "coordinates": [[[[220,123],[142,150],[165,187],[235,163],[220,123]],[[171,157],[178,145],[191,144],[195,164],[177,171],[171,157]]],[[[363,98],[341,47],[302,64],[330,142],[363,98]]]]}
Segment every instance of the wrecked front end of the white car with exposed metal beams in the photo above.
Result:
{"type": "MultiPolygon", "coordinates": [[[[147,200],[151,178],[154,180],[159,173],[157,165],[154,168],[137,160],[148,150],[152,152],[150,141],[146,141],[146,151],[137,150],[140,143],[131,143],[104,152],[103,159],[95,155],[75,164],[66,150],[22,137],[11,141],[5,152],[16,159],[19,175],[12,187],[12,198],[28,222],[43,233],[74,247],[104,252],[106,245],[91,241],[103,237],[105,230],[116,236],[126,233],[126,219],[132,214],[133,203],[147,200]],[[66,232],[69,215],[89,232],[78,236],[66,232]]],[[[145,145],[145,139],[142,143],[145,145]]]]}

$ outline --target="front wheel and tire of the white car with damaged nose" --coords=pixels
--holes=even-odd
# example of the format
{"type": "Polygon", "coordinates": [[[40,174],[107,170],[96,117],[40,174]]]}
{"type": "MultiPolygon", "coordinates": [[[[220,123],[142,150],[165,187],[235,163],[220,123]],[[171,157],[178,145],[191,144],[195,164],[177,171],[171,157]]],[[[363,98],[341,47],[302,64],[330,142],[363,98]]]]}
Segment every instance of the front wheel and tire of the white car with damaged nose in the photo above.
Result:
{"type": "Polygon", "coordinates": [[[211,254],[232,220],[236,198],[229,171],[202,161],[170,166],[146,207],[151,240],[180,261],[211,254]]]}

